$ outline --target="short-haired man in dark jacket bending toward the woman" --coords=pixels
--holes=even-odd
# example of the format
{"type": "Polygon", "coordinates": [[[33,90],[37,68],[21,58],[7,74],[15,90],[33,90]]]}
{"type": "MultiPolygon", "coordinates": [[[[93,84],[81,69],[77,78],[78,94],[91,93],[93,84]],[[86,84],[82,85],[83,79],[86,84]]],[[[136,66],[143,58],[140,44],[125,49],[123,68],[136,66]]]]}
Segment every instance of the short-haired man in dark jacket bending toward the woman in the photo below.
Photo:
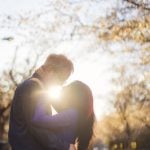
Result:
{"type": "MultiPolygon", "coordinates": [[[[10,113],[9,143],[12,150],[73,150],[50,130],[32,124],[40,96],[38,92],[54,84],[63,84],[73,71],[72,62],[64,55],[51,54],[33,76],[21,83],[14,94],[10,113]]],[[[44,97],[42,97],[45,100],[44,97]]],[[[51,113],[48,105],[47,113],[51,113]]]]}

